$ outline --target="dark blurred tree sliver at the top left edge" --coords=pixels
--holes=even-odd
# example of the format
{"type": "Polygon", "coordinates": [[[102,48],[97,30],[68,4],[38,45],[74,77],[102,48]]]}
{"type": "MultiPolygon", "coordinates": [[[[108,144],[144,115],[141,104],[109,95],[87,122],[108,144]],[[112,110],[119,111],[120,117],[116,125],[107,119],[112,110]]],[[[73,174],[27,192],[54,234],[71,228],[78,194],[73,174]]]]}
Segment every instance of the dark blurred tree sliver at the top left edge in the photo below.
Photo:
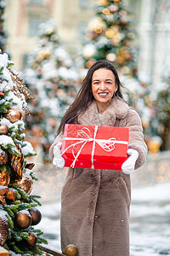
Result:
{"type": "Polygon", "coordinates": [[[7,33],[3,29],[5,0],[0,0],[0,49],[4,50],[6,44],[7,33]]]}

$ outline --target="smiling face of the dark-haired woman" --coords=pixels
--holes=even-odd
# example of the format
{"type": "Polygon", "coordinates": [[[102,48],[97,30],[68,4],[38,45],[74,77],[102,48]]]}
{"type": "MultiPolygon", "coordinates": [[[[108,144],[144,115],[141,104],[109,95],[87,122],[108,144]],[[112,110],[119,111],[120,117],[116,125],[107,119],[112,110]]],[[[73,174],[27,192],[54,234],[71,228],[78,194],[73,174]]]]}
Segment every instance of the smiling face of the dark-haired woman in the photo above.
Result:
{"type": "Polygon", "coordinates": [[[108,106],[117,90],[115,75],[111,70],[99,68],[92,77],[92,92],[98,106],[108,106]]]}

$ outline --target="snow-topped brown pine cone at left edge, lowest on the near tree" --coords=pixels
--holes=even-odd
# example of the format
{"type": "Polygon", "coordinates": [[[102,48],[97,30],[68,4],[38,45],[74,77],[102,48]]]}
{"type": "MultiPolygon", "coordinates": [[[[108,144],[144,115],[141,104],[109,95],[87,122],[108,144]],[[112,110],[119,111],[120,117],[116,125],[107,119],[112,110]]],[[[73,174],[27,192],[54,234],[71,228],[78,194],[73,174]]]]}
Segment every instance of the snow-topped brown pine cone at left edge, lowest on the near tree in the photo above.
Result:
{"type": "Polygon", "coordinates": [[[3,246],[8,236],[8,218],[5,212],[0,210],[0,245],[3,246]]]}

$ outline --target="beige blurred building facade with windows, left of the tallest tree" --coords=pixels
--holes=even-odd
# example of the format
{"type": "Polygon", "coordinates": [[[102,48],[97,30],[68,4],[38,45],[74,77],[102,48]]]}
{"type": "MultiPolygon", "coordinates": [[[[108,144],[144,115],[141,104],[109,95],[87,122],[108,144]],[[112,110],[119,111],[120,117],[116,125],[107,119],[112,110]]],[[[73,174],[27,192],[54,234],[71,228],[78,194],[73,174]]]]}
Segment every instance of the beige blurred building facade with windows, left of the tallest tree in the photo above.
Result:
{"type": "Polygon", "coordinates": [[[48,18],[56,20],[61,42],[74,52],[93,15],[94,0],[7,0],[6,3],[7,49],[15,68],[20,69],[37,43],[38,26],[48,18]]]}

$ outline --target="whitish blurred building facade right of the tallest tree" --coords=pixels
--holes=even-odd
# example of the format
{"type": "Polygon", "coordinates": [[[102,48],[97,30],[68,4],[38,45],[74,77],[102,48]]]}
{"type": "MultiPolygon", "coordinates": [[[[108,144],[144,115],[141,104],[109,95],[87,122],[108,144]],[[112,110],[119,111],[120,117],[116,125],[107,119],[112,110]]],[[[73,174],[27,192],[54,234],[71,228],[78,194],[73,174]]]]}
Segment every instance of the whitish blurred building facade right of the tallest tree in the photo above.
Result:
{"type": "Polygon", "coordinates": [[[170,73],[170,1],[130,0],[139,48],[139,70],[154,90],[170,73]]]}

